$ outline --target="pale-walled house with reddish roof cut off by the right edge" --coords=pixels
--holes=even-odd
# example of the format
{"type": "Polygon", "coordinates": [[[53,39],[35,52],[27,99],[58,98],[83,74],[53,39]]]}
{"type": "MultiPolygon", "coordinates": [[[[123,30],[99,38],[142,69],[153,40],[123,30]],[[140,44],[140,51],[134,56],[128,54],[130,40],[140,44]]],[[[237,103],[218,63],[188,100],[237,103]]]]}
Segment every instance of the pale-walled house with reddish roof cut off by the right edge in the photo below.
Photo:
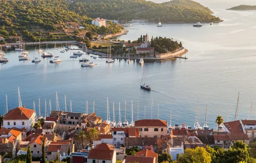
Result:
{"type": "Polygon", "coordinates": [[[256,138],[256,120],[242,120],[245,133],[250,138],[250,142],[253,142],[256,138]]]}

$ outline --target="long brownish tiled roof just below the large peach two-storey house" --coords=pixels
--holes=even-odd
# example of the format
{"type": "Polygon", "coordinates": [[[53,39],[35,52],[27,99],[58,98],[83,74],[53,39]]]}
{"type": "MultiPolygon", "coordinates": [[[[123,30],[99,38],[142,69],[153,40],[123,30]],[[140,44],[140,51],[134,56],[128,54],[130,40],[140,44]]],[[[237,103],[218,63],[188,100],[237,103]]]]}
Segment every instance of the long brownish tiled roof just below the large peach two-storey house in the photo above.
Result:
{"type": "Polygon", "coordinates": [[[157,138],[125,137],[125,145],[128,145],[128,146],[157,145],[157,138]]]}

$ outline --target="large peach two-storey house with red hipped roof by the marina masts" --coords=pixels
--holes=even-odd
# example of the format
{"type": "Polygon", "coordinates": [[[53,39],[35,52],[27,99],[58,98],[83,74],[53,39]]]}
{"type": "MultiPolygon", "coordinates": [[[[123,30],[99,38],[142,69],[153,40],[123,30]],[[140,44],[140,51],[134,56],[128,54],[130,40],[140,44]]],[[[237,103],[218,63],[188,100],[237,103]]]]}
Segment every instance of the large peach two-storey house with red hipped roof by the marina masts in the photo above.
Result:
{"type": "Polygon", "coordinates": [[[168,124],[167,121],[159,119],[142,119],[135,121],[135,127],[139,128],[141,137],[157,137],[167,135],[168,124]]]}

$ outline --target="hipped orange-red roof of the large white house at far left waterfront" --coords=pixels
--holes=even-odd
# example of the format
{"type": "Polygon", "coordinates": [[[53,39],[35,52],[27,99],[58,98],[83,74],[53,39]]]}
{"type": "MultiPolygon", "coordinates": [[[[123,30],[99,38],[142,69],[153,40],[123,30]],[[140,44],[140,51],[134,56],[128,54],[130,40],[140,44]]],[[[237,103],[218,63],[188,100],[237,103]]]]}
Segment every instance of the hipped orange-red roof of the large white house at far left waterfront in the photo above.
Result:
{"type": "Polygon", "coordinates": [[[34,110],[18,107],[10,110],[3,120],[29,120],[34,113],[34,110]]]}

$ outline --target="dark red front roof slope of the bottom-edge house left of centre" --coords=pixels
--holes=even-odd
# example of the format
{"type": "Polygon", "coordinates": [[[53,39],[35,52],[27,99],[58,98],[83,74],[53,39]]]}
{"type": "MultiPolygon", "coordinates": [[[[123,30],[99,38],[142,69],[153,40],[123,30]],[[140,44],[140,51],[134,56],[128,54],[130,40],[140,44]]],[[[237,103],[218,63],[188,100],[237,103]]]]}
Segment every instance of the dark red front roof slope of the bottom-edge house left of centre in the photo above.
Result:
{"type": "Polygon", "coordinates": [[[98,160],[112,160],[115,150],[102,150],[102,149],[91,149],[88,154],[88,159],[98,160]]]}

